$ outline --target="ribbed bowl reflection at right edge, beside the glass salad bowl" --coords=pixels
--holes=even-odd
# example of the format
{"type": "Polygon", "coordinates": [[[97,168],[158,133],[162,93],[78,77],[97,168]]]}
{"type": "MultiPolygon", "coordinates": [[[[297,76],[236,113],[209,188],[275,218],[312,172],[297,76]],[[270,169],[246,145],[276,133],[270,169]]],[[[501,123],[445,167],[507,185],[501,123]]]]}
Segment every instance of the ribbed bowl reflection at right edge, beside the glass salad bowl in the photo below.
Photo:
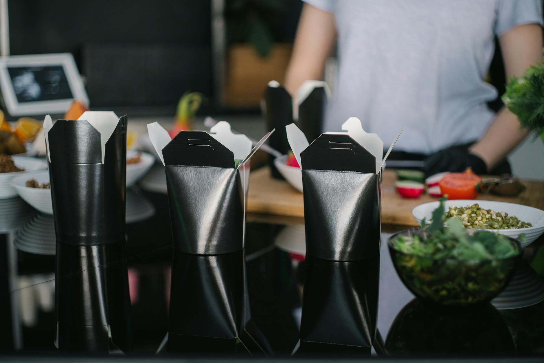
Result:
{"type": "Polygon", "coordinates": [[[544,300],[544,281],[527,263],[521,265],[504,291],[491,301],[497,309],[518,309],[544,300]]]}

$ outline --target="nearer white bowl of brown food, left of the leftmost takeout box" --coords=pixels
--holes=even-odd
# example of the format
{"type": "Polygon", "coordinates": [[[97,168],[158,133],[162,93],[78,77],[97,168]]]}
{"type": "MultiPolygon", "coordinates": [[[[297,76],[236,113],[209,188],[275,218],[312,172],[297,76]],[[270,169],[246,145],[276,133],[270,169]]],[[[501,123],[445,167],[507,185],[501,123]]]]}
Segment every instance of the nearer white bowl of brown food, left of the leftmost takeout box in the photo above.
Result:
{"type": "Polygon", "coordinates": [[[38,183],[49,182],[49,171],[36,171],[14,177],[11,180],[17,194],[28,204],[38,211],[46,214],[53,214],[53,205],[51,203],[51,189],[30,188],[27,187],[27,181],[35,179],[38,183]]]}

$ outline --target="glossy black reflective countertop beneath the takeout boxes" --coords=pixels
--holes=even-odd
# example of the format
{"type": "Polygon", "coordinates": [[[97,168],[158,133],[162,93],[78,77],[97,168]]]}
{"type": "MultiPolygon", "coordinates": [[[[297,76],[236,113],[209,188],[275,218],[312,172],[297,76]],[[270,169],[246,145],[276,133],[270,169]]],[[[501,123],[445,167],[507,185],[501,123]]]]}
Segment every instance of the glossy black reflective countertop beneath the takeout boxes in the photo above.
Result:
{"type": "MultiPolygon", "coordinates": [[[[404,287],[388,253],[389,234],[383,231],[379,260],[304,260],[298,253],[300,246],[304,245],[304,225],[270,223],[262,216],[251,217],[246,225],[244,251],[215,257],[187,255],[172,249],[166,195],[137,188],[131,193],[134,194],[131,198],[139,198],[139,205],[143,200],[151,206],[152,212],[142,212],[140,217],[134,218],[139,222],[127,223],[126,247],[123,248],[122,244],[106,249],[57,247],[57,255],[61,254],[66,261],[64,267],[57,270],[57,281],[55,256],[28,252],[52,253],[51,230],[46,227],[48,223],[52,225],[52,217],[20,205],[17,210],[19,219],[9,222],[13,226],[4,230],[11,231],[0,235],[0,309],[3,310],[0,315],[0,353],[5,358],[60,356],[55,347],[55,340],[59,339],[58,319],[79,324],[76,305],[85,296],[86,289],[92,290],[96,287],[93,284],[100,284],[103,278],[100,276],[107,276],[110,281],[121,276],[118,285],[117,282],[109,282],[112,286],[107,287],[111,296],[115,296],[123,288],[124,274],[128,275],[129,302],[110,302],[112,305],[109,307],[109,317],[113,321],[109,323],[122,326],[115,329],[117,346],[110,349],[110,354],[114,355],[122,354],[118,348],[125,350],[123,347],[130,347],[126,350],[132,353],[127,356],[132,358],[165,359],[209,355],[248,358],[251,354],[259,358],[285,359],[316,359],[327,354],[337,358],[369,358],[373,355],[382,358],[451,358],[461,355],[529,359],[544,354],[544,283],[529,266],[529,263],[534,264],[543,258],[539,249],[541,239],[527,248],[526,260],[518,267],[510,285],[492,304],[471,309],[439,309],[419,302],[404,287]],[[35,223],[36,219],[41,227],[35,228],[32,234],[26,225],[32,220],[35,223]],[[22,231],[27,235],[22,236],[22,231]],[[22,237],[24,241],[21,242],[22,237]],[[32,243],[33,238],[35,244],[32,243]],[[349,299],[341,295],[345,291],[354,291],[353,296],[360,297],[362,281],[371,285],[378,282],[378,276],[372,272],[377,271],[378,266],[374,347],[372,351],[350,349],[353,336],[342,327],[356,320],[357,312],[354,312],[349,299]],[[199,271],[206,273],[197,273],[199,271]],[[171,281],[183,286],[194,285],[196,279],[201,279],[201,292],[170,299],[171,281]],[[244,280],[246,286],[237,285],[236,281],[244,280]],[[73,281],[83,281],[84,284],[82,282],[80,286],[73,281]],[[345,344],[298,347],[305,282],[312,289],[305,295],[312,299],[311,304],[305,305],[308,306],[306,327],[311,326],[313,330],[302,334],[334,336],[345,344]],[[55,284],[81,287],[78,291],[65,289],[61,296],[57,292],[57,299],[72,302],[72,305],[64,305],[72,306],[71,309],[57,315],[54,312],[55,284]],[[170,309],[169,316],[170,301],[178,303],[170,309]],[[345,301],[348,303],[342,305],[345,301]],[[319,311],[322,310],[319,307],[327,304],[339,304],[335,317],[320,316],[319,311]],[[234,311],[235,318],[229,319],[228,311],[221,312],[224,305],[232,305],[232,309],[227,310],[234,311]],[[246,349],[236,346],[239,342],[235,342],[234,348],[221,345],[224,341],[217,339],[174,340],[170,337],[168,344],[165,343],[169,330],[184,334],[220,325],[228,333],[239,328],[234,321],[240,317],[244,322],[251,322],[251,339],[259,349],[246,347],[241,337],[239,340],[246,349]],[[343,318],[344,325],[336,323],[343,318]],[[217,324],[222,319],[225,324],[217,324]]],[[[0,210],[6,203],[6,200],[0,200],[0,210]]],[[[372,288],[363,292],[365,299],[369,298],[367,294],[372,294],[372,288]]],[[[366,328],[372,330],[372,327],[366,328]]],[[[88,353],[82,349],[71,354],[88,353]]]]}

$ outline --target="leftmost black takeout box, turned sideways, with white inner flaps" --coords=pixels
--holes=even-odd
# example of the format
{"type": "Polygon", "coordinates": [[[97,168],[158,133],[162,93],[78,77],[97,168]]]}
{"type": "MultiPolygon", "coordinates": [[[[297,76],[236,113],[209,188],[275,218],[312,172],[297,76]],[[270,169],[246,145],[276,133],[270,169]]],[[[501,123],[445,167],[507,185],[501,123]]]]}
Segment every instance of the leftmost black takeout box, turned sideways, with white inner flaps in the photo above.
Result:
{"type": "Polygon", "coordinates": [[[57,241],[98,245],[125,238],[127,116],[87,111],[44,121],[57,241]]]}

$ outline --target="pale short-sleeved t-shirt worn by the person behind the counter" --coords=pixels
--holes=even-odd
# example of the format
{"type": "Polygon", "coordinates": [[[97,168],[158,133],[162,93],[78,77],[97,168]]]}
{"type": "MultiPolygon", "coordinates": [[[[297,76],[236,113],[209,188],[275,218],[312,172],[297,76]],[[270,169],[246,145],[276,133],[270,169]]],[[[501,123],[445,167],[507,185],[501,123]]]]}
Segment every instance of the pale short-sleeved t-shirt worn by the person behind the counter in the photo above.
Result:
{"type": "Polygon", "coordinates": [[[325,131],[350,116],[385,146],[432,153],[479,139],[497,90],[483,79],[494,36],[542,24],[540,0],[304,0],[335,15],[336,95],[325,131]]]}

